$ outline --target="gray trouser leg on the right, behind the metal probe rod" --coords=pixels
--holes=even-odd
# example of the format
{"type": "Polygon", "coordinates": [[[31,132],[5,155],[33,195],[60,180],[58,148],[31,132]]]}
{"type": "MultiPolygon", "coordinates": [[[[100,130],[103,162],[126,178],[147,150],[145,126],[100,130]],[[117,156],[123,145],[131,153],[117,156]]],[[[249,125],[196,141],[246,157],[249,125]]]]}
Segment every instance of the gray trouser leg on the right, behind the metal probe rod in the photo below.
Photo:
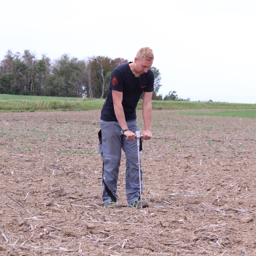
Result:
{"type": "MultiPolygon", "coordinates": [[[[130,131],[139,131],[136,120],[129,120],[126,122],[130,131]]],[[[126,175],[125,175],[125,190],[128,204],[133,204],[140,198],[140,177],[138,165],[138,147],[136,139],[134,141],[127,140],[122,137],[122,148],[126,157],[126,175]]],[[[140,169],[141,188],[142,183],[142,168],[140,169]]]]}

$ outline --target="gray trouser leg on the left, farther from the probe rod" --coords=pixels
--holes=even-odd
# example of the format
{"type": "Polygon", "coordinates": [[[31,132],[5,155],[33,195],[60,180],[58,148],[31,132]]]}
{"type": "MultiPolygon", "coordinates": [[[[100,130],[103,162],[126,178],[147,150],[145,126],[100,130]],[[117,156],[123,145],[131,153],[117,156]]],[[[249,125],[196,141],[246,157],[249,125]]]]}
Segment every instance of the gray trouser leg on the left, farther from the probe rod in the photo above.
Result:
{"type": "Polygon", "coordinates": [[[118,122],[105,122],[100,120],[102,144],[99,144],[103,157],[102,167],[102,199],[117,201],[117,181],[121,160],[122,133],[118,122]]]}

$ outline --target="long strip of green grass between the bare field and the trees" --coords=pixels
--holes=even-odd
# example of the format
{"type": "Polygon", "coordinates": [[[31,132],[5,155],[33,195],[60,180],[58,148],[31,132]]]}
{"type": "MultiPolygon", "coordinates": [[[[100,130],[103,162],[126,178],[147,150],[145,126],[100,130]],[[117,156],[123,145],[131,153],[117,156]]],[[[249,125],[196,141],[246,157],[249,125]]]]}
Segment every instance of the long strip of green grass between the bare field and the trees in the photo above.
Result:
{"type": "MultiPolygon", "coordinates": [[[[0,112],[85,111],[102,109],[105,99],[0,94],[0,112]]],[[[137,109],[142,109],[140,100],[137,109]]],[[[256,109],[256,104],[226,102],[152,101],[153,110],[256,109]]],[[[199,113],[196,113],[199,114],[199,113]]]]}

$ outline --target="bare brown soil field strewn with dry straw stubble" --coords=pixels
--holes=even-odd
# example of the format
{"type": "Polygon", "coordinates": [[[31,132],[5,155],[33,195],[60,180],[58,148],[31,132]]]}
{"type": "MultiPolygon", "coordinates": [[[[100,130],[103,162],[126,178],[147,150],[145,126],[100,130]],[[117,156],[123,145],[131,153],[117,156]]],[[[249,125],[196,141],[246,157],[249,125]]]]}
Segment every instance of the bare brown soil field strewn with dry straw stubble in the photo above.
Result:
{"type": "Polygon", "coordinates": [[[99,116],[0,114],[0,256],[256,255],[256,119],[154,111],[149,208],[127,207],[122,156],[104,209],[99,116]]]}

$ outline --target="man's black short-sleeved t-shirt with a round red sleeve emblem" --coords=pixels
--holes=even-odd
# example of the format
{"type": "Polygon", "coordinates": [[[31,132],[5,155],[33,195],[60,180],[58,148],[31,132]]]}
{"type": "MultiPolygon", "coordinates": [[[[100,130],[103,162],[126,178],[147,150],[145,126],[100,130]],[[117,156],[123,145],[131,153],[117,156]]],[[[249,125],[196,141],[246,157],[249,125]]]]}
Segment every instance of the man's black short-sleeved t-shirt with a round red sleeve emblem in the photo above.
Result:
{"type": "MultiPolygon", "coordinates": [[[[130,62],[131,63],[131,62],[130,62]]],[[[117,121],[112,90],[123,93],[122,106],[125,113],[125,120],[136,119],[136,107],[143,92],[154,91],[154,73],[148,70],[147,73],[135,77],[132,73],[129,63],[116,67],[111,74],[108,96],[101,111],[103,121],[117,121]]]]}

